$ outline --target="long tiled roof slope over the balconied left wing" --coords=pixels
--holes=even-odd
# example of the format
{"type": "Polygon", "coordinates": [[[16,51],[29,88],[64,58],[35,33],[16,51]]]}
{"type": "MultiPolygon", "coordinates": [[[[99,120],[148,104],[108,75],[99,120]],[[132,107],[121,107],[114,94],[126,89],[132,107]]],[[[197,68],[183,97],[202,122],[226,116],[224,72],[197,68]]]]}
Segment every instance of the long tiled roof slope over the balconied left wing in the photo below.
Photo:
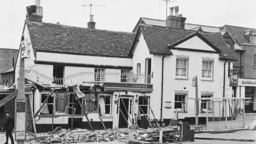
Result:
{"type": "MultiPolygon", "coordinates": [[[[135,33],[26,22],[36,51],[128,57],[135,33]]],[[[35,55],[36,56],[36,55],[35,55]]]]}

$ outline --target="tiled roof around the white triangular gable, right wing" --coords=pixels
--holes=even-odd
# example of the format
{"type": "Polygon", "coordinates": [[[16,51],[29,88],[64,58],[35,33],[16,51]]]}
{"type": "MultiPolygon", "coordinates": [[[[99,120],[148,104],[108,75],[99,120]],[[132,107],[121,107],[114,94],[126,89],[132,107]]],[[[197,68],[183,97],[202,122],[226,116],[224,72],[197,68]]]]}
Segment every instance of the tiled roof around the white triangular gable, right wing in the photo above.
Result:
{"type": "MultiPolygon", "coordinates": [[[[160,26],[140,25],[140,28],[148,45],[149,52],[152,54],[171,54],[171,51],[167,48],[168,45],[178,42],[182,38],[195,33],[193,30],[167,28],[160,26]]],[[[221,59],[237,60],[234,57],[235,52],[229,49],[221,34],[199,31],[198,33],[221,51],[221,59]]]]}

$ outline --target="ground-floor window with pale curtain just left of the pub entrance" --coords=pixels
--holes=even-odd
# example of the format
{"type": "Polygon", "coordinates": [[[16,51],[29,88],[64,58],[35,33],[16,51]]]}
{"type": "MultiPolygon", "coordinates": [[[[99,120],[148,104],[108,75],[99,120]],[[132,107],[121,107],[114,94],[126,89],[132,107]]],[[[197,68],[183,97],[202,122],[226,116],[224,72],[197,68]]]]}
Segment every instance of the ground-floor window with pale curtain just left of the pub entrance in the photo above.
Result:
{"type": "Polygon", "coordinates": [[[111,115],[111,97],[112,95],[108,94],[99,95],[99,112],[101,116],[111,115]]]}

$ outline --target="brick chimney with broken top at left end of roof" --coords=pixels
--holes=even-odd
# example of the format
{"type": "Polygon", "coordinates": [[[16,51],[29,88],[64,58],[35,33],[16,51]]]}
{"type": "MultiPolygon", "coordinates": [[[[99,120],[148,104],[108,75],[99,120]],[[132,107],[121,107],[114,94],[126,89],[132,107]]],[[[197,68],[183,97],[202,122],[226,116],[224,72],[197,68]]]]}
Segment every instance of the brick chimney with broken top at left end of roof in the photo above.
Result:
{"type": "Polygon", "coordinates": [[[42,22],[43,19],[43,7],[40,6],[41,1],[36,0],[35,5],[26,7],[27,15],[26,18],[31,22],[42,22]]]}

